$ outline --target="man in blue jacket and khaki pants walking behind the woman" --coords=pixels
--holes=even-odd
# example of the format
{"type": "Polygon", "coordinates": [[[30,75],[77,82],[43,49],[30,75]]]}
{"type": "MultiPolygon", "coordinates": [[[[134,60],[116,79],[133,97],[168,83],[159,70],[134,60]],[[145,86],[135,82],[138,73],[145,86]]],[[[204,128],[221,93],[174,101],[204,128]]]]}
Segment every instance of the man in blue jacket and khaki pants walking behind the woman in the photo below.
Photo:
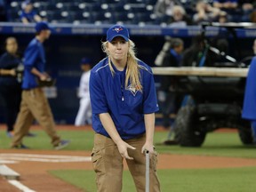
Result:
{"type": "Polygon", "coordinates": [[[24,54],[24,77],[22,82],[22,99],[12,140],[12,148],[28,148],[22,144],[22,138],[28,132],[34,118],[43,126],[44,131],[52,139],[55,149],[64,148],[68,140],[60,140],[55,131],[55,124],[48,100],[38,80],[45,81],[49,76],[44,72],[45,53],[43,43],[51,36],[51,30],[46,22],[36,23],[36,37],[28,44],[24,54]]]}

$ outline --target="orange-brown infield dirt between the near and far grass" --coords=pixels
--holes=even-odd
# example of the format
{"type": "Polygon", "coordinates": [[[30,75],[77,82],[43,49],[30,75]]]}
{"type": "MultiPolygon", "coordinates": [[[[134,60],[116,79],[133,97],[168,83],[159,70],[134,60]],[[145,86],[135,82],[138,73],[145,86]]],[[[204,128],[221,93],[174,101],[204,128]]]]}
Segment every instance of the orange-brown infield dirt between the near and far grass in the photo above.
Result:
{"type": "MultiPolygon", "coordinates": [[[[90,156],[89,152],[81,151],[36,151],[36,150],[15,150],[2,149],[0,154],[29,155],[51,155],[51,156],[90,156]]],[[[34,159],[35,160],[35,159],[34,159]]],[[[38,161],[18,161],[15,164],[6,164],[15,172],[19,172],[20,182],[37,192],[81,192],[83,190],[76,188],[68,183],[53,177],[48,173],[50,170],[92,170],[91,162],[38,162],[38,161]]],[[[224,167],[242,167],[256,166],[253,159],[214,157],[214,156],[185,156],[185,155],[159,155],[158,169],[198,169],[198,168],[224,168],[224,167]],[[198,164],[200,162],[200,164],[198,164]]],[[[125,167],[126,169],[126,167],[125,167]]],[[[85,178],[84,178],[85,180],[85,178]]],[[[0,191],[16,192],[18,189],[12,187],[3,178],[0,179],[0,191]]]]}

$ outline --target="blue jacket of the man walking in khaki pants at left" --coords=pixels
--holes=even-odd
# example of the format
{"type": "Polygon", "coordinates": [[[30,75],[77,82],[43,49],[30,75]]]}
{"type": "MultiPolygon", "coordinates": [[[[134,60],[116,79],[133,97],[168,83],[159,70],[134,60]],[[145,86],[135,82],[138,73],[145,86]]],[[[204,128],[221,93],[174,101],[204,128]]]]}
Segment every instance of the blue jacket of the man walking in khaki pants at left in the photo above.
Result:
{"type": "Polygon", "coordinates": [[[24,54],[24,76],[22,89],[32,89],[38,86],[37,76],[31,73],[32,68],[36,68],[44,73],[45,53],[41,42],[34,38],[29,44],[24,54]]]}

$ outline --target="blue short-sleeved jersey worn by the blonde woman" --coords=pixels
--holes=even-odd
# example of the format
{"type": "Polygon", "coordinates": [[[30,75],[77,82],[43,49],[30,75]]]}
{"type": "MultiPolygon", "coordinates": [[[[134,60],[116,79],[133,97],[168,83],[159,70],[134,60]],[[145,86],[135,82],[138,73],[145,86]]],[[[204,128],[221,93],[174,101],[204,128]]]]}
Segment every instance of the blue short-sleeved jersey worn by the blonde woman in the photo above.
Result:
{"type": "Polygon", "coordinates": [[[92,102],[92,128],[95,132],[109,137],[100,122],[99,114],[109,113],[116,130],[123,140],[138,137],[146,132],[144,114],[158,110],[156,87],[151,68],[138,60],[142,92],[129,83],[124,87],[125,71],[118,71],[112,64],[112,76],[108,58],[101,60],[91,71],[90,97],[92,102]]]}

